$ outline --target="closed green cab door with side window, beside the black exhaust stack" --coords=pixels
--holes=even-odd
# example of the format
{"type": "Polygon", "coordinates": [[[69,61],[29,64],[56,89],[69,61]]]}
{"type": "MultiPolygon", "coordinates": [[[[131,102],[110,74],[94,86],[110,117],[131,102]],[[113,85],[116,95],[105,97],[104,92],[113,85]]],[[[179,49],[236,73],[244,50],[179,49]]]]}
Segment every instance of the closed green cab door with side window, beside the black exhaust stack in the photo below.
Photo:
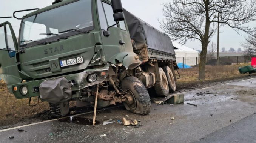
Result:
{"type": "MultiPolygon", "coordinates": [[[[101,30],[107,30],[109,26],[116,24],[113,18],[113,9],[110,3],[102,2],[102,0],[97,0],[97,11],[99,15],[101,30]]],[[[124,41],[123,37],[120,35],[120,27],[118,27],[118,25],[109,28],[108,31],[110,32],[110,36],[102,36],[105,59],[107,61],[114,55],[121,52],[133,52],[132,48],[125,48],[124,45],[126,45],[126,41],[124,41]]]]}

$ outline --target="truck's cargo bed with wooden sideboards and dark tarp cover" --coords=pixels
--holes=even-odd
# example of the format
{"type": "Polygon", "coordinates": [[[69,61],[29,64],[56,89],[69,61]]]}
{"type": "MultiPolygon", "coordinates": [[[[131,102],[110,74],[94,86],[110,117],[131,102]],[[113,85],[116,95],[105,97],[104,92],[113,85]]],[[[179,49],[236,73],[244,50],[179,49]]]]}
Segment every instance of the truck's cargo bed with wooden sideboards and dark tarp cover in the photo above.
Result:
{"type": "Polygon", "coordinates": [[[168,35],[150,26],[150,24],[125,9],[123,10],[131,40],[136,43],[133,50],[139,55],[140,60],[145,62],[150,59],[176,60],[173,44],[168,35]]]}

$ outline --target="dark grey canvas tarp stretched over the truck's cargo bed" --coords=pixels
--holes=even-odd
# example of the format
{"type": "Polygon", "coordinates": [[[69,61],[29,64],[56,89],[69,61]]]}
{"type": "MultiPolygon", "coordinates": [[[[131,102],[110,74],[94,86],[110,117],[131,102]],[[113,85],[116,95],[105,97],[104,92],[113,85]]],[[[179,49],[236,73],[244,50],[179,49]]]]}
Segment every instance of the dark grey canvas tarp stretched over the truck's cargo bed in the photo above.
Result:
{"type": "Polygon", "coordinates": [[[136,42],[136,49],[148,47],[175,54],[171,38],[145,23],[130,12],[123,9],[131,39],[136,42]]]}

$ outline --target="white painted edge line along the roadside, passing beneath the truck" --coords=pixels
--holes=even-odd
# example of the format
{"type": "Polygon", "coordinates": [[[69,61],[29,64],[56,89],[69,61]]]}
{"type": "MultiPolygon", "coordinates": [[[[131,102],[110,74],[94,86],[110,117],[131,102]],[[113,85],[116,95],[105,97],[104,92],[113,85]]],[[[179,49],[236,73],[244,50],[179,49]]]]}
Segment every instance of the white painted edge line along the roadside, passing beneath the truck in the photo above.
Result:
{"type": "MultiPolygon", "coordinates": [[[[253,79],[256,79],[256,78],[250,78],[250,79],[247,79],[247,80],[253,80],[253,79]]],[[[241,80],[241,81],[247,81],[247,80],[241,80]]],[[[238,81],[236,81],[236,82],[238,82],[238,81]]],[[[221,85],[218,85],[218,86],[227,85],[227,84],[230,84],[230,83],[225,83],[225,84],[221,84],[221,85]]],[[[202,89],[208,89],[208,88],[211,88],[211,87],[215,87],[215,86],[205,87],[205,88],[202,88],[202,89]]],[[[171,94],[169,96],[185,94],[185,93],[188,93],[188,92],[193,92],[193,91],[202,90],[202,89],[195,89],[195,90],[191,90],[191,91],[187,91],[187,92],[171,94]]],[[[119,107],[119,106],[110,107],[108,109],[112,109],[112,108],[116,108],[116,107],[119,107]]],[[[104,110],[105,109],[101,109],[101,110],[97,110],[97,111],[104,111],[104,110]]],[[[80,115],[89,114],[89,113],[93,113],[93,111],[86,112],[86,113],[81,113],[81,114],[76,114],[76,115],[72,115],[72,116],[80,116],[80,115]]],[[[67,117],[72,117],[72,116],[67,116],[67,117]]],[[[58,118],[58,119],[46,120],[46,121],[43,121],[43,122],[31,123],[31,124],[28,124],[28,125],[23,125],[23,126],[17,126],[17,127],[13,127],[13,128],[3,129],[3,130],[0,130],[0,132],[9,131],[9,130],[12,130],[12,129],[24,128],[24,127],[32,126],[32,125],[38,125],[38,124],[41,124],[41,123],[52,122],[52,121],[56,121],[56,120],[59,120],[59,119],[64,119],[64,118],[67,118],[67,117],[62,117],[62,118],[58,118]]]]}

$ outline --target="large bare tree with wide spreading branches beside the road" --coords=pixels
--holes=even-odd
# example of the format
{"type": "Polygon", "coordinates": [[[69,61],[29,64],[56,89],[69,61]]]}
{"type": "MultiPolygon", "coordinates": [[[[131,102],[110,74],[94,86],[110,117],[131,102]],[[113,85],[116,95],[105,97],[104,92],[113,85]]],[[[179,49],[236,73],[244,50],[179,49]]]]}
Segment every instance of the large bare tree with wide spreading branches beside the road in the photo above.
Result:
{"type": "Polygon", "coordinates": [[[256,30],[244,25],[256,20],[256,0],[172,0],[163,6],[165,20],[161,21],[161,28],[165,33],[174,41],[185,43],[191,39],[202,44],[199,80],[205,79],[207,47],[218,23],[237,33],[256,30]]]}

